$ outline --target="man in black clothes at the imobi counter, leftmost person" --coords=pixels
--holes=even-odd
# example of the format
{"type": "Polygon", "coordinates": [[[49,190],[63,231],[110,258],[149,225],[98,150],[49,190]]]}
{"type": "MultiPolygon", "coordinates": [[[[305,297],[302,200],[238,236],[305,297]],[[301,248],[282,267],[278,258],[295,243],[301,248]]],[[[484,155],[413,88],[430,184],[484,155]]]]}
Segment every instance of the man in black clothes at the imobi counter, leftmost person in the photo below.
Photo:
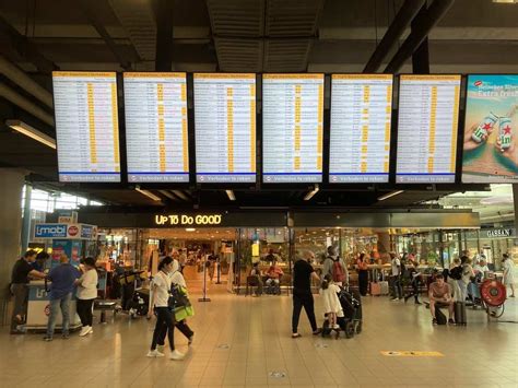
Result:
{"type": "Polygon", "coordinates": [[[28,280],[30,277],[44,279],[45,273],[36,271],[32,263],[36,259],[35,250],[27,250],[25,255],[16,260],[11,273],[11,293],[14,295],[14,308],[11,319],[11,334],[17,334],[21,331],[16,327],[23,324],[27,314],[28,302],[28,280]]]}

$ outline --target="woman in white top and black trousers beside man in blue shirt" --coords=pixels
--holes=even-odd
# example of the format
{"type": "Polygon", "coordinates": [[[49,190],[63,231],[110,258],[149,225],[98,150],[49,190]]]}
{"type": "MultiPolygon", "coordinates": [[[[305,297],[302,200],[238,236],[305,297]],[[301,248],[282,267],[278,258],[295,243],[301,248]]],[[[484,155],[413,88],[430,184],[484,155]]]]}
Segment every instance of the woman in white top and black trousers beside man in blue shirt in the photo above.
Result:
{"type": "Polygon", "coordinates": [[[95,259],[87,257],[84,259],[83,264],[83,274],[75,281],[75,285],[78,286],[78,292],[75,294],[78,299],[78,315],[81,319],[81,325],[83,326],[79,337],[84,337],[94,332],[92,329],[92,306],[95,298],[97,297],[98,283],[97,270],[95,269],[95,259]]]}

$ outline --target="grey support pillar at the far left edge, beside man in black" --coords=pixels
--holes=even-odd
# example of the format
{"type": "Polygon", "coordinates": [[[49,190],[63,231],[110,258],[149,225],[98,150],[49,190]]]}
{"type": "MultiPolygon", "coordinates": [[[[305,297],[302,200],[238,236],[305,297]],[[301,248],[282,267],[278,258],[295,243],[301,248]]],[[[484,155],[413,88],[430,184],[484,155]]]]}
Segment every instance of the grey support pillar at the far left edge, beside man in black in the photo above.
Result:
{"type": "Polygon", "coordinates": [[[25,172],[14,168],[0,168],[0,324],[4,325],[7,302],[9,299],[8,284],[11,282],[11,271],[20,258],[22,235],[22,199],[25,172]]]}

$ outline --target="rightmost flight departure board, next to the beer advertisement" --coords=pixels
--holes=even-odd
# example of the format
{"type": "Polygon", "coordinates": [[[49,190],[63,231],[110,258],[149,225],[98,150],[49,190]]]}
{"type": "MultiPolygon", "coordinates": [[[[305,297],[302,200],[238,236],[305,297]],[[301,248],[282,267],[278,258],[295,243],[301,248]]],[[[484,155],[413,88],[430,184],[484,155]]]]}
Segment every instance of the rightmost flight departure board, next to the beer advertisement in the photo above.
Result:
{"type": "Polygon", "coordinates": [[[455,183],[460,75],[401,75],[399,184],[455,183]]]}

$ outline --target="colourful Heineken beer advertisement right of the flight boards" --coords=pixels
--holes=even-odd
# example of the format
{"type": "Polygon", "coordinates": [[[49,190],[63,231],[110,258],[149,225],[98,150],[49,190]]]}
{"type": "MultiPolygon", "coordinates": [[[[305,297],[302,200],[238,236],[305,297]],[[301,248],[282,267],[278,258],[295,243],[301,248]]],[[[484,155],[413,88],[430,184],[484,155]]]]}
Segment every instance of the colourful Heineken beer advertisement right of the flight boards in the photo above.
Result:
{"type": "Polygon", "coordinates": [[[518,181],[518,75],[470,74],[462,183],[518,181]]]}

